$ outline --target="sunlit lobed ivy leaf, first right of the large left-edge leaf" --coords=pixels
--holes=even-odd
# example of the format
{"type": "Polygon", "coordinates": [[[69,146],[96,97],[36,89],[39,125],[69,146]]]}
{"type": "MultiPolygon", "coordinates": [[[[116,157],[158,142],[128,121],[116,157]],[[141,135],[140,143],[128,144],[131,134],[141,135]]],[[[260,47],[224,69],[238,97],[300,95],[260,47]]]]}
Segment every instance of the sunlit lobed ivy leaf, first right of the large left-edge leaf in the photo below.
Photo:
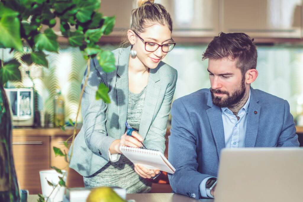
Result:
{"type": "Polygon", "coordinates": [[[36,35],[34,41],[37,49],[40,51],[58,52],[57,35],[50,28],[45,29],[44,33],[36,35]]]}

